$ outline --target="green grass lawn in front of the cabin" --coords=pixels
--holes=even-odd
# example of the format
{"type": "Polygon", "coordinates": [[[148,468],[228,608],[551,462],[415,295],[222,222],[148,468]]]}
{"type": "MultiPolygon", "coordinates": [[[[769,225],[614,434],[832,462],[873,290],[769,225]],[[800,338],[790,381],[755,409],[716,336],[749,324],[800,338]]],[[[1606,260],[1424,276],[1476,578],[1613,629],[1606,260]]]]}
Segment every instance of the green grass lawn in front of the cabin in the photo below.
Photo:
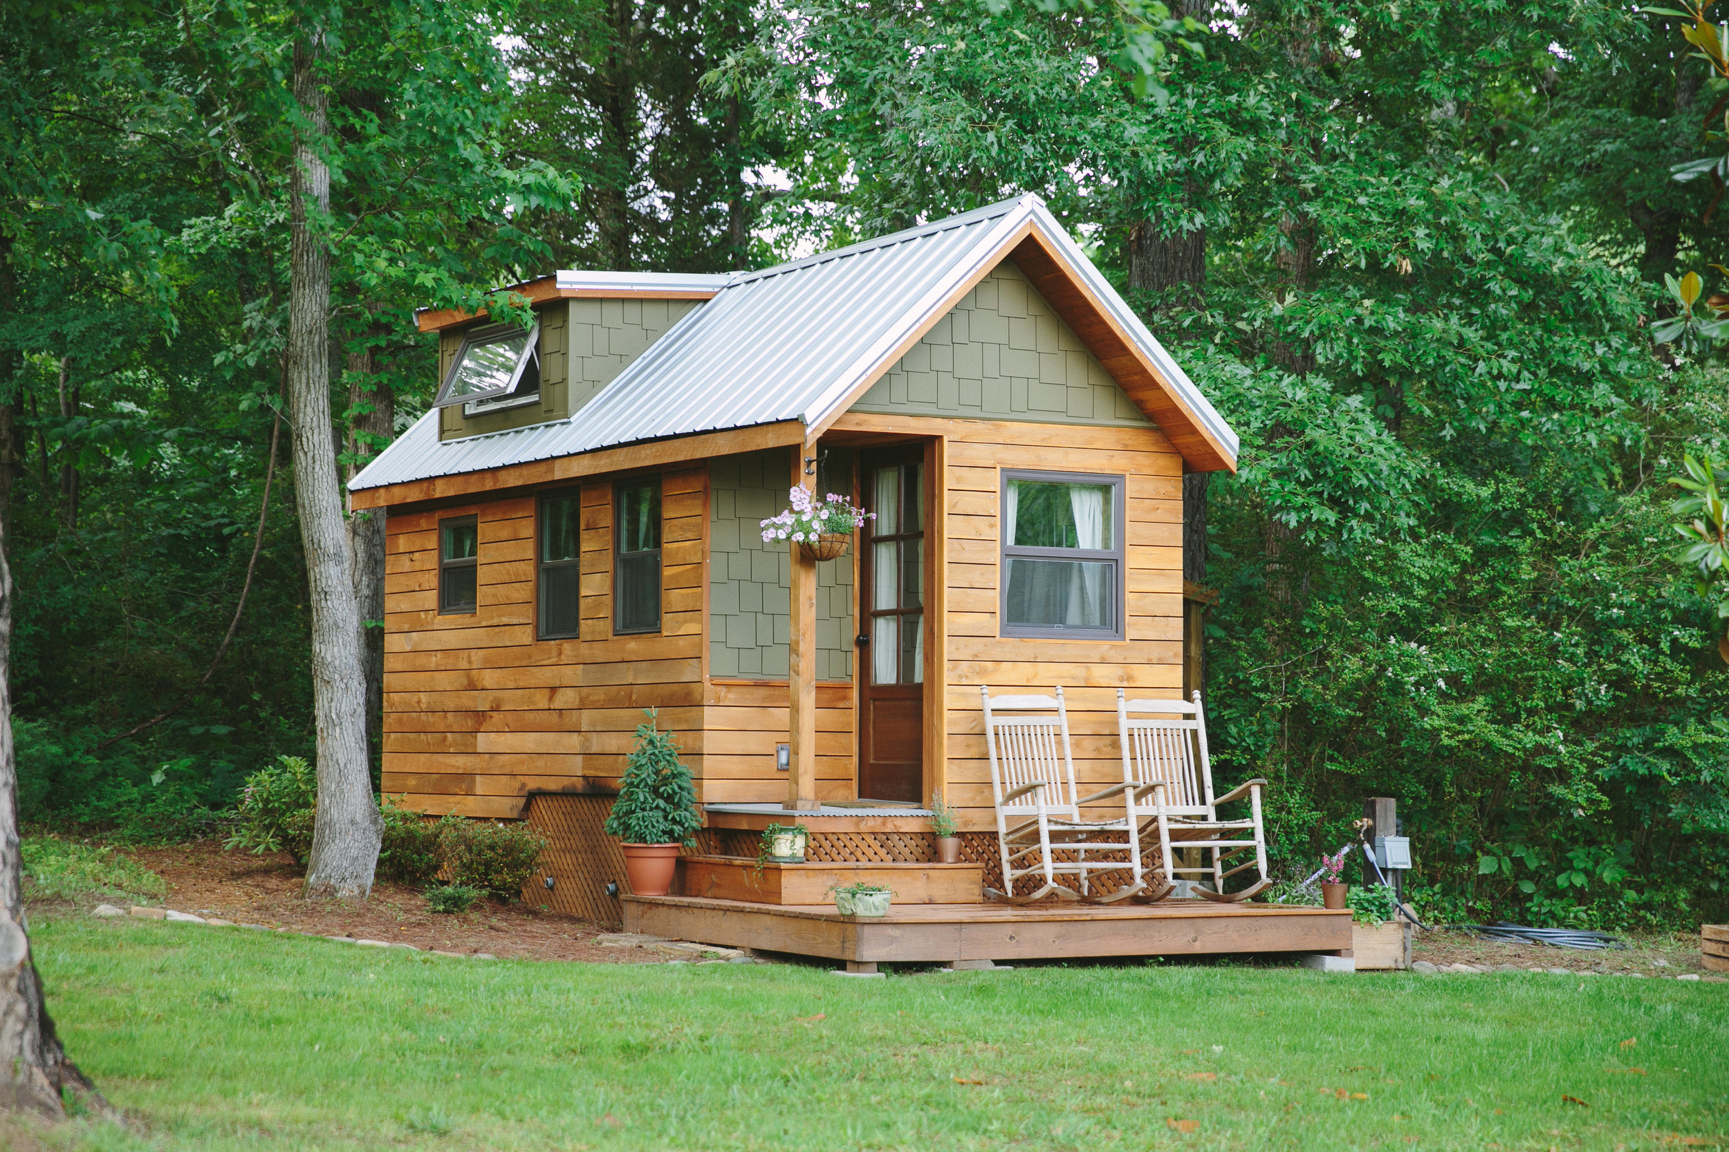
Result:
{"type": "Polygon", "coordinates": [[[140,1128],[0,1147],[1729,1149],[1729,984],[33,939],[67,1050],[140,1128]]]}

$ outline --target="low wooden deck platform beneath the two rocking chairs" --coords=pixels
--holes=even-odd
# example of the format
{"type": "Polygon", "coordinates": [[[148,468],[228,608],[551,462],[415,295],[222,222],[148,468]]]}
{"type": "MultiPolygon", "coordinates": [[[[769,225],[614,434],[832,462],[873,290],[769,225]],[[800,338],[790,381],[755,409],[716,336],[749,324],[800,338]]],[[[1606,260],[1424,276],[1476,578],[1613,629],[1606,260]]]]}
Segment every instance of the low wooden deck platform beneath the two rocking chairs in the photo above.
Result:
{"type": "Polygon", "coordinates": [[[833,905],[624,896],[624,931],[728,948],[877,963],[980,963],[1248,951],[1350,955],[1350,913],[1269,905],[896,905],[880,920],[833,905]]]}

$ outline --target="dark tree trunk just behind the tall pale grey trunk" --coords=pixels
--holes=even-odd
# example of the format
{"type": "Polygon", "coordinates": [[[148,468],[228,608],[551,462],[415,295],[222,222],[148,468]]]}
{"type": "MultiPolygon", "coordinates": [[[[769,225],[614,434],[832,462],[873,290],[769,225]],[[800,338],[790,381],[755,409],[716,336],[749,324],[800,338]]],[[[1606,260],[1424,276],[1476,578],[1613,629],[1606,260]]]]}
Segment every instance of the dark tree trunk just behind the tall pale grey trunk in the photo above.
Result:
{"type": "MultiPolygon", "coordinates": [[[[348,355],[348,479],[354,479],[391,439],[396,396],[379,379],[372,348],[348,355]],[[365,412],[363,412],[365,408],[365,412]]],[[[354,560],[354,607],[360,612],[360,664],[367,683],[367,752],[382,749],[384,728],[384,509],[351,512],[348,547],[354,560]]]]}

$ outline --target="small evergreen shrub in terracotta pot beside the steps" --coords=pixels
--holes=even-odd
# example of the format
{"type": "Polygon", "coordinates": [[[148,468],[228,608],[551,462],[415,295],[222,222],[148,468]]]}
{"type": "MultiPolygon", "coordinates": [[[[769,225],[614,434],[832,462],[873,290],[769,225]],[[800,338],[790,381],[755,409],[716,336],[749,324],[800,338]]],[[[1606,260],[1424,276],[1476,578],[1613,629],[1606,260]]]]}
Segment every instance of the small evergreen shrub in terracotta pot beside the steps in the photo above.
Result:
{"type": "Polygon", "coordinates": [[[655,709],[643,709],[648,723],[636,726],[619,797],[607,815],[607,835],[624,841],[624,875],[636,896],[666,896],[673,891],[678,849],[690,844],[702,815],[690,768],[678,763],[678,737],[660,732],[655,709]]]}

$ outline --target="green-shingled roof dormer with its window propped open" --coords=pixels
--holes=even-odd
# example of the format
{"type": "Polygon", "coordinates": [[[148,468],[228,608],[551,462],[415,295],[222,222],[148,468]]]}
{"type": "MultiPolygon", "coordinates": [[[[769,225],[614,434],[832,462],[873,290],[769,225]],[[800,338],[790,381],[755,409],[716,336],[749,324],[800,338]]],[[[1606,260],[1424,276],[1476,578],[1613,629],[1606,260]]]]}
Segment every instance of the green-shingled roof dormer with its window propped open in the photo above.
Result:
{"type": "Polygon", "coordinates": [[[486,313],[422,311],[420,330],[439,334],[439,439],[569,419],[724,284],[726,275],[558,272],[512,289],[534,308],[529,330],[486,313]]]}

